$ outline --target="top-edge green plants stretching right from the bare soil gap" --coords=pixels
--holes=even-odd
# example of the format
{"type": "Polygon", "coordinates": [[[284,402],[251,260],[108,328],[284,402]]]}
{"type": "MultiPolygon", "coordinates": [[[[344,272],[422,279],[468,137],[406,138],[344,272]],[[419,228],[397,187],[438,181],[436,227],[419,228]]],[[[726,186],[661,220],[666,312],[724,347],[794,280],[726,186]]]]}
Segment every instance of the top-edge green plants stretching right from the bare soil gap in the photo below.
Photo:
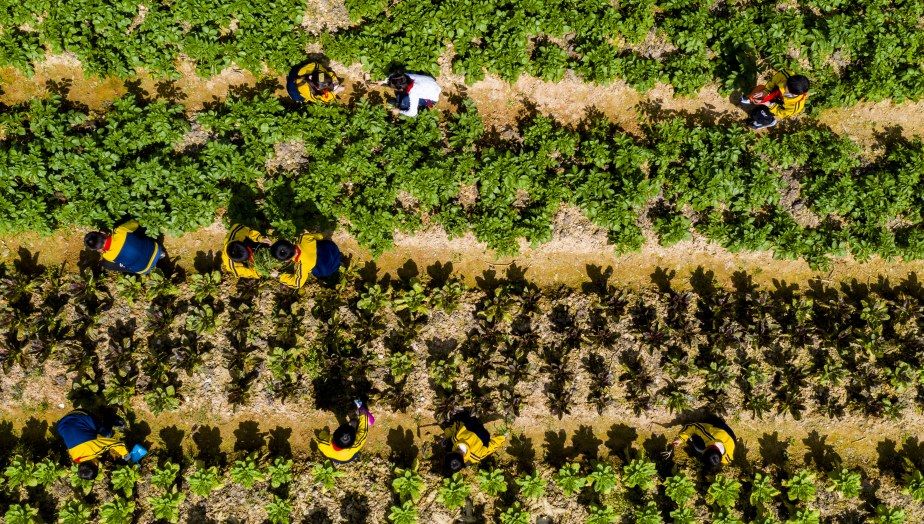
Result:
{"type": "Polygon", "coordinates": [[[816,107],[924,94],[920,0],[347,1],[354,26],[322,35],[325,49],[375,74],[392,64],[430,73],[452,45],[467,82],[485,72],[546,80],[566,69],[647,90],[694,94],[710,82],[749,89],[758,69],[795,69],[814,82],[816,107]]]}

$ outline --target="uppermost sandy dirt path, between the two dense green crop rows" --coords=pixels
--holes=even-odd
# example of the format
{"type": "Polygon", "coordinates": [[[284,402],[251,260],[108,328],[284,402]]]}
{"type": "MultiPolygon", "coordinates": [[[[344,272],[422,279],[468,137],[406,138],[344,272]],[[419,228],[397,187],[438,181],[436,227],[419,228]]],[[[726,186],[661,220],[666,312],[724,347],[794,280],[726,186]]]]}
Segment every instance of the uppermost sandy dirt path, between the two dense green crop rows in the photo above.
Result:
{"type": "MultiPolygon", "coordinates": [[[[347,91],[342,95],[344,99],[349,99],[355,92],[382,91],[374,82],[379,79],[370,78],[358,64],[345,67],[335,63],[334,67],[348,79],[347,91]]],[[[178,61],[177,68],[181,77],[173,84],[157,82],[142,74],[138,86],[148,93],[177,100],[190,111],[195,111],[207,102],[223,99],[235,86],[252,86],[258,80],[252,73],[236,67],[225,69],[210,79],[198,77],[193,64],[188,61],[178,61]]],[[[621,81],[604,86],[584,82],[572,74],[556,83],[523,75],[511,84],[488,76],[466,86],[463,77],[451,73],[448,62],[438,80],[445,86],[447,97],[471,98],[485,122],[501,129],[515,124],[529,107],[566,123],[576,123],[588,112],[599,111],[632,133],[640,133],[639,112],[644,107],[701,113],[709,120],[738,120],[744,116],[728,97],[719,94],[716,86],[703,88],[695,98],[675,97],[673,89],[663,84],[642,94],[621,81]]],[[[126,82],[119,79],[84,76],[79,60],[65,53],[49,55],[44,62],[36,65],[35,75],[31,78],[15,68],[0,69],[0,102],[14,104],[46,96],[52,83],[67,86],[72,100],[93,110],[105,108],[127,91],[126,82]]],[[[276,83],[278,94],[284,96],[284,77],[277,76],[276,83]]],[[[441,105],[451,107],[446,100],[441,105]]],[[[886,129],[898,128],[905,136],[924,135],[924,101],[903,104],[864,102],[852,107],[824,110],[818,120],[836,132],[871,147],[875,144],[876,135],[886,129]]]]}

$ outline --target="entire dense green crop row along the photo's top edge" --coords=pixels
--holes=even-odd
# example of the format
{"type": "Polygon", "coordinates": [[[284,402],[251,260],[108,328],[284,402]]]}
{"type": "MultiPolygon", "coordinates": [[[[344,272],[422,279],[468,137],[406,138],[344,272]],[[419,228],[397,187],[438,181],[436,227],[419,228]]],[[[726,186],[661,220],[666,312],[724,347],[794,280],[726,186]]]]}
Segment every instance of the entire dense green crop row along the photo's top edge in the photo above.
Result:
{"type": "MultiPolygon", "coordinates": [[[[8,2],[0,10],[0,64],[30,71],[45,50],[76,54],[97,75],[145,70],[176,75],[193,59],[214,75],[236,63],[286,71],[318,37],[302,27],[306,5],[243,0],[8,2]]],[[[485,71],[514,80],[529,72],[560,80],[623,78],[693,94],[718,82],[753,83],[758,69],[794,68],[812,77],[814,105],[917,99],[924,93],[921,0],[811,0],[780,6],[712,0],[514,1],[348,0],[355,25],[320,37],[335,58],[375,74],[394,64],[435,72],[452,65],[471,82],[485,71]]]]}

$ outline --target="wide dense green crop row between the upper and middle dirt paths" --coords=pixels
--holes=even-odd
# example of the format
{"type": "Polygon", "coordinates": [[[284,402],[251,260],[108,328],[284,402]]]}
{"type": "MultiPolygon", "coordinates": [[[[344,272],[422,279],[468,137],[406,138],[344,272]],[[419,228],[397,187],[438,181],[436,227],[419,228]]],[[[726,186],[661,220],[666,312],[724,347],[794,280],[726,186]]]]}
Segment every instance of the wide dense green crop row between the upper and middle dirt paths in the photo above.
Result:
{"type": "Polygon", "coordinates": [[[920,139],[884,136],[869,160],[823,127],[756,135],[682,116],[646,122],[644,138],[600,115],[576,129],[533,115],[499,136],[468,103],[398,125],[367,101],[293,108],[267,88],[191,123],[179,105],[140,95],[104,114],[55,95],[0,107],[0,230],[131,215],[181,232],[227,208],[231,221],[289,235],[345,222],[374,253],[396,230],[434,224],[511,253],[521,239],[549,240],[568,203],[619,251],[644,243],[645,218],[662,245],[695,230],[732,251],[813,266],[845,254],[924,257],[920,139]]]}

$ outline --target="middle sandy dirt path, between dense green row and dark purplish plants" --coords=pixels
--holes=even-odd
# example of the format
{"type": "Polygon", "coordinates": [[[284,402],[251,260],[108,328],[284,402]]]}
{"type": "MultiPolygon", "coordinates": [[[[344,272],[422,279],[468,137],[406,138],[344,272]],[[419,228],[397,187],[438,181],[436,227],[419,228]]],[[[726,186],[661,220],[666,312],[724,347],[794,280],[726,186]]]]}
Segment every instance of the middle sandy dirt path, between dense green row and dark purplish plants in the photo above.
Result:
{"type": "MultiPolygon", "coordinates": [[[[83,230],[61,230],[48,237],[36,233],[2,237],[0,262],[14,261],[29,253],[37,254],[41,264],[67,263],[73,268],[83,249],[83,234],[83,230]]],[[[220,250],[225,234],[225,228],[215,223],[180,237],[168,237],[164,244],[180,266],[195,270],[197,255],[220,250]]],[[[394,249],[375,260],[343,230],[334,235],[334,240],[354,262],[374,263],[380,275],[395,275],[399,270],[402,275],[426,274],[426,269],[434,264],[451,263],[453,270],[469,284],[484,278],[486,272],[494,271],[501,277],[511,269],[525,271],[527,279],[543,286],[577,286],[590,281],[592,275],[611,272],[613,284],[643,287],[651,285],[652,275],[659,268],[675,272],[679,287],[687,285],[690,274],[699,268],[712,272],[725,285],[731,283],[735,272],[743,271],[755,283],[767,287],[774,286],[776,281],[804,285],[814,278],[828,282],[852,279],[871,282],[885,278],[896,283],[913,274],[924,274],[924,260],[857,262],[843,258],[834,262],[829,271],[814,271],[803,260],[776,260],[769,252],[730,253],[701,237],[671,248],[649,242],[637,253],[617,255],[607,245],[605,232],[567,209],[557,217],[551,241],[538,247],[524,242],[519,255],[499,259],[473,236],[449,239],[439,229],[415,235],[398,233],[394,249]]]]}

